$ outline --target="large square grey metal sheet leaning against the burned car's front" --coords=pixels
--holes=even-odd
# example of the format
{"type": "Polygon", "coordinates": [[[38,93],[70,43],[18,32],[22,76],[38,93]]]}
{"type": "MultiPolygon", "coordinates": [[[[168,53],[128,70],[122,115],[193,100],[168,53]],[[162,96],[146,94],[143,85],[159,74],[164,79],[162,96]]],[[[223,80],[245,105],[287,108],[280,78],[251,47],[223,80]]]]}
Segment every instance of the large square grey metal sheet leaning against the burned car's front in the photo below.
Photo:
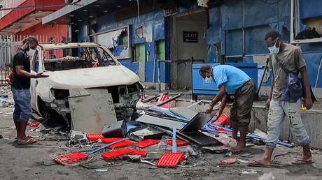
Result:
{"type": "Polygon", "coordinates": [[[117,122],[112,96],[107,89],[70,89],[69,93],[74,130],[102,133],[104,126],[117,122]]]}

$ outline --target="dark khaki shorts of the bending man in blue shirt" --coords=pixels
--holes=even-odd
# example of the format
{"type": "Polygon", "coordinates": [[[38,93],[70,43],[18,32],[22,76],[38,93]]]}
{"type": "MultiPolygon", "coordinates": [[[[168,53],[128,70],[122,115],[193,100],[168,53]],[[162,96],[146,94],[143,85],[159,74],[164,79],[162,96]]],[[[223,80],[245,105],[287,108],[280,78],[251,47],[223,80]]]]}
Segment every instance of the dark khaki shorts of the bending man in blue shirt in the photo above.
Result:
{"type": "Polygon", "coordinates": [[[235,93],[235,102],[230,110],[232,121],[238,121],[238,126],[248,126],[251,121],[251,108],[255,98],[255,83],[253,79],[239,87],[235,93]]]}

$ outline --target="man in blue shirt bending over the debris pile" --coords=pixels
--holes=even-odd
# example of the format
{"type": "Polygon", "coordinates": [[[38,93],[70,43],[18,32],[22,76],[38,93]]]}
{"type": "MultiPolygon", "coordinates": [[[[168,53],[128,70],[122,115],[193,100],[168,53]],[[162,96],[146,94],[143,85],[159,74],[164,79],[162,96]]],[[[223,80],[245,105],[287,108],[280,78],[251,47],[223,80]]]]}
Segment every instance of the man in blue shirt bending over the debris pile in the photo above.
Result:
{"type": "Polygon", "coordinates": [[[251,108],[253,107],[255,97],[255,83],[253,79],[239,68],[229,65],[213,67],[205,64],[200,68],[199,73],[204,82],[214,81],[219,89],[217,96],[207,108],[207,113],[210,113],[214,105],[221,101],[221,108],[217,114],[217,117],[220,117],[225,108],[228,94],[235,95],[235,102],[230,110],[232,138],[237,140],[238,130],[240,131],[240,138],[237,147],[233,147],[230,151],[235,153],[245,151],[247,128],[251,120],[251,108]]]}

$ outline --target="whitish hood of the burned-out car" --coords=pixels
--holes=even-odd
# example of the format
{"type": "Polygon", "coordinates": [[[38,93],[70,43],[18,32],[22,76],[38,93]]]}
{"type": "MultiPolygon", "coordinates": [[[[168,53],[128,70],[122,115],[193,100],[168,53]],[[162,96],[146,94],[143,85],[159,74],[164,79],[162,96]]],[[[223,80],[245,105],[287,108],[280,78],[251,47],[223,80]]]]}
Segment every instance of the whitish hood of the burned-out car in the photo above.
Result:
{"type": "Polygon", "coordinates": [[[80,68],[46,71],[45,80],[55,89],[81,89],[130,85],[138,82],[139,76],[124,66],[80,68]]]}

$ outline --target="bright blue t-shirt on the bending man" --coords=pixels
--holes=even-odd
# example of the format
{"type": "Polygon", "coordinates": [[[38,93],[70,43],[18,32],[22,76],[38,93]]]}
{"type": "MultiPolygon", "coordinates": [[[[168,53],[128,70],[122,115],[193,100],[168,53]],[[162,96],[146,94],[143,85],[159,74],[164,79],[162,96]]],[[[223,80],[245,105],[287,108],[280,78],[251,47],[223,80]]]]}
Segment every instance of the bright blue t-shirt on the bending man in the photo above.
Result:
{"type": "Polygon", "coordinates": [[[239,87],[248,82],[248,80],[251,80],[251,77],[244,71],[229,65],[214,66],[212,74],[218,88],[225,84],[225,91],[228,94],[235,94],[239,87]]]}

